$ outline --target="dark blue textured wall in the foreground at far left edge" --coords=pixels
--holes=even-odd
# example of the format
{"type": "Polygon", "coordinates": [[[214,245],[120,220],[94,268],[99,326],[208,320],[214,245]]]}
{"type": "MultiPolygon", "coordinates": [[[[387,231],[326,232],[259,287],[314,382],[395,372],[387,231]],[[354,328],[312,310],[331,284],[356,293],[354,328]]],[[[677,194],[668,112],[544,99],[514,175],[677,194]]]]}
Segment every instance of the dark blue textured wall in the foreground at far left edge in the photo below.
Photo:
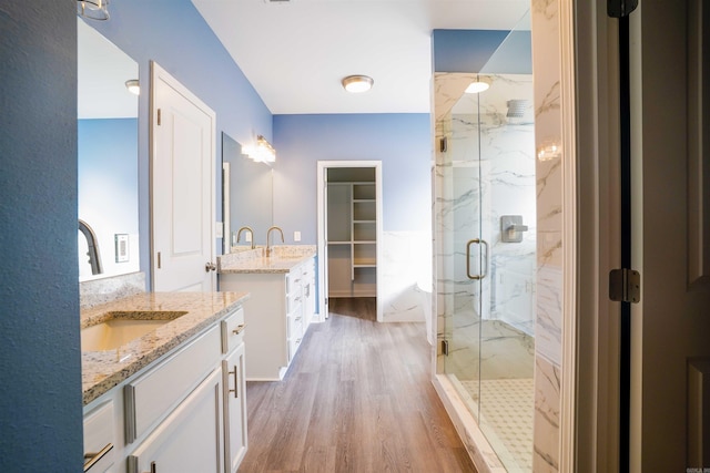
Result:
{"type": "Polygon", "coordinates": [[[81,471],[77,19],[0,0],[0,471],[81,471]]]}

